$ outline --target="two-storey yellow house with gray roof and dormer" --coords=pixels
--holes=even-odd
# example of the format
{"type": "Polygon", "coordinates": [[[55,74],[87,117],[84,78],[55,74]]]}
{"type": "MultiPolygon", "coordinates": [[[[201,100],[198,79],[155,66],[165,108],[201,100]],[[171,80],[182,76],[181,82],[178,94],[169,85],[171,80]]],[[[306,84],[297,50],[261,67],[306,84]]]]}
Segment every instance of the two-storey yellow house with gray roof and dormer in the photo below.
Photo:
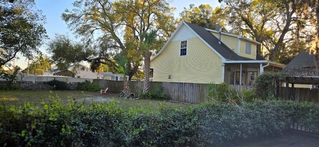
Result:
{"type": "Polygon", "coordinates": [[[182,21],[151,59],[153,81],[242,85],[285,66],[261,57],[260,42],[225,32],[218,37],[217,30],[182,21]]]}

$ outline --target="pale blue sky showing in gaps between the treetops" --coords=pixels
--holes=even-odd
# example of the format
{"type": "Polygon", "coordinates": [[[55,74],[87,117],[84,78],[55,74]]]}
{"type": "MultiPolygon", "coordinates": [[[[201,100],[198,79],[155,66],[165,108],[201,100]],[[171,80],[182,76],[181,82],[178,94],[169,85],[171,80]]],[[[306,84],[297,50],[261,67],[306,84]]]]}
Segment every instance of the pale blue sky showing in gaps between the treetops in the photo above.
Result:
{"type": "MultiPolygon", "coordinates": [[[[36,8],[42,10],[42,14],[46,17],[46,23],[44,27],[46,29],[49,38],[54,38],[54,34],[67,34],[70,37],[73,36],[73,32],[67,28],[66,23],[62,20],[61,14],[64,10],[72,9],[72,2],[74,0],[35,0],[36,8]]],[[[184,7],[189,8],[189,4],[195,4],[198,6],[200,4],[210,4],[212,7],[220,6],[218,0],[171,0],[170,6],[176,7],[174,16],[179,16],[179,13],[184,9],[184,7]]],[[[45,42],[48,42],[46,40],[45,42]]],[[[45,51],[45,44],[40,47],[40,50],[47,55],[45,51]]],[[[15,65],[24,69],[27,67],[27,60],[21,58],[15,61],[15,65]]]]}

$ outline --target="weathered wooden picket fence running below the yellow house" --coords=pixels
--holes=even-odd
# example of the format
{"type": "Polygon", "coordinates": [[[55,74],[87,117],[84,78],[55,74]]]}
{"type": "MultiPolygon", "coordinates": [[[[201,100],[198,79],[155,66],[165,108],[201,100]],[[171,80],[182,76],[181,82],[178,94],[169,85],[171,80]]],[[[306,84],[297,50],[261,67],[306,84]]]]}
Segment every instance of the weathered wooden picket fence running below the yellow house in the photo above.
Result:
{"type": "MultiPolygon", "coordinates": [[[[143,81],[128,81],[131,92],[135,96],[141,96],[143,92],[143,81]]],[[[104,79],[95,79],[93,83],[98,84],[102,88],[109,87],[108,92],[120,93],[123,90],[123,81],[110,81],[104,79]]],[[[159,86],[163,87],[163,93],[168,100],[198,104],[201,102],[207,102],[209,99],[207,96],[207,84],[197,83],[173,83],[173,82],[150,82],[149,92],[154,93],[159,89],[159,86]]],[[[244,89],[251,89],[245,85],[231,85],[236,88],[237,91],[244,89]]]]}

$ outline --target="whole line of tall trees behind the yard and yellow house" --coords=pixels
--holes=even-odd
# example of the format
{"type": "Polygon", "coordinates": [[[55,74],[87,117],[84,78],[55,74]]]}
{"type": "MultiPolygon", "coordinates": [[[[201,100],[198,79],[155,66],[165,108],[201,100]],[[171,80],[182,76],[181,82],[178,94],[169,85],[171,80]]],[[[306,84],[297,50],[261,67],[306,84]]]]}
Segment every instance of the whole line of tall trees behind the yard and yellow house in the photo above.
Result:
{"type": "MultiPolygon", "coordinates": [[[[37,47],[46,38],[45,21],[34,1],[0,2],[0,66],[17,58],[18,52],[31,59],[39,56],[37,47]],[[17,40],[18,36],[26,39],[17,40]]],[[[87,61],[94,71],[119,72],[121,56],[126,58],[123,66],[131,79],[140,73],[142,65],[148,64],[143,61],[160,50],[182,20],[211,29],[218,23],[225,32],[261,42],[257,51],[263,57],[284,64],[300,51],[319,51],[317,0],[219,0],[217,7],[190,4],[177,17],[173,15],[176,8],[169,2],[73,1],[74,8],[66,9],[61,18],[81,41],[57,34],[47,47],[52,54],[51,64],[63,68],[87,61]],[[147,41],[146,34],[154,32],[154,39],[147,41]]]]}

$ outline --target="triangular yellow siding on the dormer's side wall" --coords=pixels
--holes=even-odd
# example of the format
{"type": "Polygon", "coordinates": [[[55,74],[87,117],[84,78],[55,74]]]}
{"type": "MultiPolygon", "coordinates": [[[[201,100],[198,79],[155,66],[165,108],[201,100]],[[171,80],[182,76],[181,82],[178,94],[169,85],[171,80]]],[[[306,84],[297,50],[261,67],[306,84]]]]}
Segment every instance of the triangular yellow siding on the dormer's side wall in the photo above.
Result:
{"type": "MultiPolygon", "coordinates": [[[[211,33],[218,38],[218,33],[211,33]]],[[[221,34],[220,40],[221,42],[226,44],[231,50],[233,50],[236,54],[238,54],[238,38],[221,34]]]]}

